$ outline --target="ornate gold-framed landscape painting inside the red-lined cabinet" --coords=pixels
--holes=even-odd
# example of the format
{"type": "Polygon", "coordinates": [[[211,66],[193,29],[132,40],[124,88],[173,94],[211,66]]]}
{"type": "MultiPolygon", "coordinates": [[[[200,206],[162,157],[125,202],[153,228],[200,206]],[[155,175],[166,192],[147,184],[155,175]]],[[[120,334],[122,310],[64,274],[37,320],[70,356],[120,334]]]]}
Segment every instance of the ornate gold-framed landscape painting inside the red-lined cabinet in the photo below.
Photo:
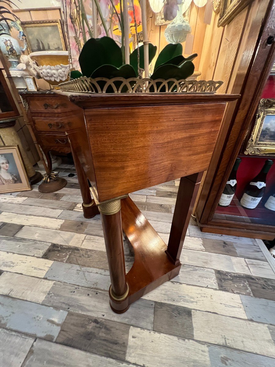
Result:
{"type": "Polygon", "coordinates": [[[275,156],[275,99],[260,100],[256,122],[244,153],[275,156]]]}

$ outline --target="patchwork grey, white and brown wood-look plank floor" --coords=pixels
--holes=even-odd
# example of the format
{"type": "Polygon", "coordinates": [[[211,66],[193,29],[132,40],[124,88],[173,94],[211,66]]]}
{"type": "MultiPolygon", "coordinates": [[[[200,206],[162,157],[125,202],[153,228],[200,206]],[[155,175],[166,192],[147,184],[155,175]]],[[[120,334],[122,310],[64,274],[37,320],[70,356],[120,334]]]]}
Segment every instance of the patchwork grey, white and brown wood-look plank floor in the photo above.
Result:
{"type": "MultiPolygon", "coordinates": [[[[180,275],[118,315],[100,217],[83,217],[67,179],[0,196],[1,367],[275,366],[275,273],[255,240],[191,221],[180,275]]],[[[166,243],[177,185],[131,195],[166,243]]]]}

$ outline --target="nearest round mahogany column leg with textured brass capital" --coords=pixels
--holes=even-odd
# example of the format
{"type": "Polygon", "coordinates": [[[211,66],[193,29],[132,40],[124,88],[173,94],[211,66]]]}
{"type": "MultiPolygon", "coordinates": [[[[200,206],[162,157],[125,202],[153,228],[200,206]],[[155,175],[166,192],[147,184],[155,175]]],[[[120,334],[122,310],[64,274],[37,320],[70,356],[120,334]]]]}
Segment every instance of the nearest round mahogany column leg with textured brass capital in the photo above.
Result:
{"type": "Polygon", "coordinates": [[[128,305],[125,308],[123,301],[128,295],[129,287],[126,283],[120,200],[99,204],[98,208],[111,278],[110,305],[115,312],[122,313],[128,308],[128,305]]]}

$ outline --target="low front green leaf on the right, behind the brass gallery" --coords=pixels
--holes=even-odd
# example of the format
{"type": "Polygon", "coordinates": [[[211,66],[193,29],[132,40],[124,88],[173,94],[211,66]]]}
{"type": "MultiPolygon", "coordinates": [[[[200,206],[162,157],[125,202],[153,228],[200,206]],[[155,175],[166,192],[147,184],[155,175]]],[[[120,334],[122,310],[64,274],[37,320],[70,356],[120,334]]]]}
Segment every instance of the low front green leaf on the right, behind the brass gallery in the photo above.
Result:
{"type": "MultiPolygon", "coordinates": [[[[191,76],[194,73],[195,66],[192,63],[192,61],[187,60],[184,61],[181,66],[176,66],[172,64],[165,64],[162,66],[159,66],[157,70],[154,71],[154,73],[151,76],[151,79],[186,79],[188,76],[191,76]]],[[[161,81],[156,82],[157,87],[161,85],[161,81]]],[[[170,88],[173,84],[173,81],[168,82],[168,87],[170,88]]],[[[150,87],[150,91],[153,91],[154,88],[150,87]]],[[[165,87],[162,87],[160,92],[165,92],[165,87]]]]}

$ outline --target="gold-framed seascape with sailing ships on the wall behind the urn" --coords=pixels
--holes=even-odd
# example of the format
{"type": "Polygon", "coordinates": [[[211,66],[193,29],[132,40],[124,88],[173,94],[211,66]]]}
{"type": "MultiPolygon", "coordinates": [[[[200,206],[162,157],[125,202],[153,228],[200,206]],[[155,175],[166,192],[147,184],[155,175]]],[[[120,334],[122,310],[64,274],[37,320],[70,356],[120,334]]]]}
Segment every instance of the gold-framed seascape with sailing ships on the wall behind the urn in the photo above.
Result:
{"type": "Polygon", "coordinates": [[[60,19],[21,22],[26,35],[27,50],[66,51],[67,42],[60,19]]]}

